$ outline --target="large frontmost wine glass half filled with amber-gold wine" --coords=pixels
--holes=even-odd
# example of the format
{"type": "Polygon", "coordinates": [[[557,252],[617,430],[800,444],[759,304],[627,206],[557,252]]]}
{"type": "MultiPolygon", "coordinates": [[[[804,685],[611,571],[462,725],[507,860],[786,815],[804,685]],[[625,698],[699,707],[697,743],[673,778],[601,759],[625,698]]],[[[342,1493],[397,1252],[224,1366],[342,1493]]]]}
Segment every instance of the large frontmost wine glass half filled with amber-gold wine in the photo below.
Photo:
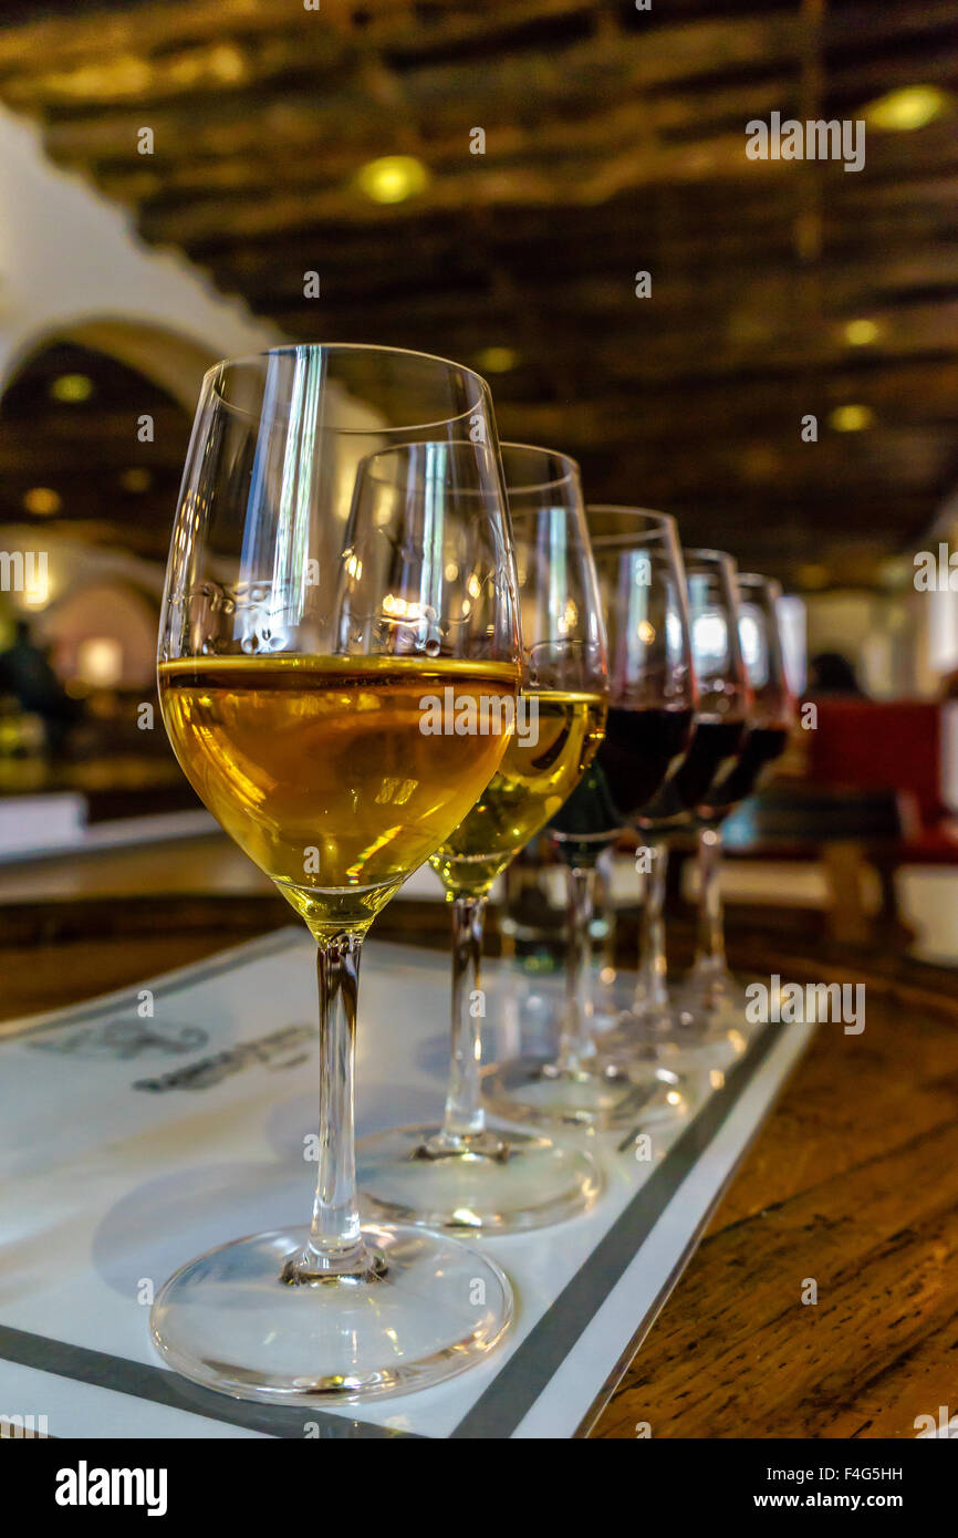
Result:
{"type": "Polygon", "coordinates": [[[487,386],[391,348],[289,346],[203,381],[169,555],[158,686],[192,786],[317,941],[312,1223],[218,1244],[160,1290],[152,1338],[237,1398],[349,1401],[484,1358],[512,1312],[487,1258],[360,1224],[361,943],[509,741],[518,608],[487,386]],[[407,449],[417,494],[380,495],[407,449]],[[420,488],[427,495],[418,495],[420,488]],[[435,703],[487,731],[435,732],[435,703]]]}

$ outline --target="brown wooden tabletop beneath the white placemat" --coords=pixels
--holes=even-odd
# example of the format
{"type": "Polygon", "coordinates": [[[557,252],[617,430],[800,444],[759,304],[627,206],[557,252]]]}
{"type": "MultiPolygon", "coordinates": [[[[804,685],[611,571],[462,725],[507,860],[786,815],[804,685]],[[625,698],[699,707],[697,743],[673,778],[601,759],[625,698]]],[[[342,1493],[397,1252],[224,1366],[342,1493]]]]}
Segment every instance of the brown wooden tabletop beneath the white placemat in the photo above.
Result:
{"type": "MultiPolygon", "coordinates": [[[[278,897],[0,909],[0,1020],[121,987],[292,917],[278,897]]],[[[443,944],[441,904],[394,903],[377,930],[421,937],[424,918],[443,944]]],[[[820,1027],[583,1433],[634,1438],[649,1423],[657,1438],[910,1438],[916,1415],[956,1409],[956,974],[758,923],[733,927],[732,961],[795,981],[866,981],[866,1030],[820,1027]],[[813,1306],[801,1301],[809,1278],[813,1306]]],[[[687,955],[687,932],[675,955],[687,955]]]]}

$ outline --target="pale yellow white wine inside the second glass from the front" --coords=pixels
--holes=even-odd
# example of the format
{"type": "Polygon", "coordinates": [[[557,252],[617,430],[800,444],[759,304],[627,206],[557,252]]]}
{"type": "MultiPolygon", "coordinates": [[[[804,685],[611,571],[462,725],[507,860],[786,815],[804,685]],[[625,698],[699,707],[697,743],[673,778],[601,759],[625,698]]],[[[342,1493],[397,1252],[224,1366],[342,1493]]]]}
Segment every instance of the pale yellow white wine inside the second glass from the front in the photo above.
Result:
{"type": "MultiPolygon", "coordinates": [[[[592,761],[606,723],[606,701],[597,694],[551,689],[523,691],[526,718],[538,709],[538,740],[515,732],[498,772],[432,855],[446,892],[484,892],[520,849],[544,827],[572,794],[592,761]]],[[[523,715],[520,712],[520,727],[523,715]]]]}

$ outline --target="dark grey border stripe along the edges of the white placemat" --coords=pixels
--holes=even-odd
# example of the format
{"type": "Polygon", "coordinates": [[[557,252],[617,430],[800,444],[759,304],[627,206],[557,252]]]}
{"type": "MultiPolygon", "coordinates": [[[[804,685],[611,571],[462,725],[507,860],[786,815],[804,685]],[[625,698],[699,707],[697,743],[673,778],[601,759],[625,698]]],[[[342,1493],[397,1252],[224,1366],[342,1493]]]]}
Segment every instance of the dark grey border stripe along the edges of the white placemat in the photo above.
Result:
{"type": "MultiPolygon", "coordinates": [[[[254,961],[263,955],[281,952],[297,944],[298,940],[300,935],[295,929],[283,929],[278,934],[264,935],[261,940],[254,941],[252,946],[244,944],[241,950],[254,961]],[[254,947],[255,954],[251,955],[254,947]]],[[[237,963],[237,949],[215,960],[183,967],[180,972],[158,980],[154,994],[178,992],[183,987],[229,970],[237,963]]],[[[77,1006],[77,1009],[58,1012],[54,1018],[38,1023],[35,1029],[77,1024],[89,1017],[126,1007],[123,1003],[125,998],[126,994],[112,1000],[91,1001],[89,1004],[77,1006]]],[[[17,1041],[20,1037],[17,1034],[6,1040],[17,1041]]],[[[778,1040],[775,1027],[766,1026],[757,1040],[752,1041],[741,1061],[726,1075],[721,1089],[715,1090],[695,1114],[661,1164],[618,1215],[558,1298],[534,1324],[529,1335],[504,1363],[472,1409],[452,1429],[449,1433],[451,1438],[504,1440],[512,1435],[527,1410],[538,1400],[558,1364],[567,1357],[575,1341],[586,1330],[598,1304],[627,1270],[640,1244],[660,1220],[726,1117],[732,1112],[746,1084],[769,1055],[775,1040],[778,1040]]],[[[678,1269],[681,1270],[681,1266],[678,1269]]],[[[669,1280],[666,1292],[672,1280],[675,1278],[669,1280]]],[[[641,1337],[647,1320],[654,1318],[661,1307],[661,1301],[660,1293],[654,1307],[638,1321],[632,1340],[641,1337]]],[[[263,1430],[272,1436],[301,1436],[304,1420],[318,1423],[329,1436],[378,1438],[418,1435],[397,1432],[375,1421],[308,1410],[306,1406],[300,1410],[297,1407],[257,1406],[235,1400],[228,1401],[229,1410],[226,1410],[221,1393],[200,1389],[165,1367],[154,1367],[125,1357],[112,1357],[108,1352],[69,1346],[45,1335],[29,1335],[28,1332],[12,1330],[0,1324],[0,1360],[3,1358],[17,1361],[26,1367],[37,1367],[42,1372],[52,1372],[62,1378],[74,1378],[80,1383],[114,1389],[118,1393],[129,1393],[141,1400],[154,1400],[160,1404],[192,1410],[197,1415],[218,1420],[223,1424],[263,1430]],[[14,1347],[12,1350],[11,1346],[14,1347]],[[297,1429],[283,1429],[292,1426],[292,1416],[295,1416],[297,1429]]],[[[586,1407],[584,1413],[589,1413],[589,1407],[586,1407]]]]}

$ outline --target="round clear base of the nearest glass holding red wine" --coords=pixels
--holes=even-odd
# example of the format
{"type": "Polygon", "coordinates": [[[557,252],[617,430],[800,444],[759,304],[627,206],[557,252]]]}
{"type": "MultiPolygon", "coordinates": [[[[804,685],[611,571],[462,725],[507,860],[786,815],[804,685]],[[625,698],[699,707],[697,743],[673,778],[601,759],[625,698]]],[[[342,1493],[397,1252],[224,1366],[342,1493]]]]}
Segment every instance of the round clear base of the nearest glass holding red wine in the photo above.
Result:
{"type": "Polygon", "coordinates": [[[678,1074],[661,1064],[610,1063],[560,1069],[549,1058],[512,1058],[483,1072],[483,1095],[498,1115],[535,1126],[610,1132],[652,1130],[681,1120],[689,1100],[678,1074]]]}

